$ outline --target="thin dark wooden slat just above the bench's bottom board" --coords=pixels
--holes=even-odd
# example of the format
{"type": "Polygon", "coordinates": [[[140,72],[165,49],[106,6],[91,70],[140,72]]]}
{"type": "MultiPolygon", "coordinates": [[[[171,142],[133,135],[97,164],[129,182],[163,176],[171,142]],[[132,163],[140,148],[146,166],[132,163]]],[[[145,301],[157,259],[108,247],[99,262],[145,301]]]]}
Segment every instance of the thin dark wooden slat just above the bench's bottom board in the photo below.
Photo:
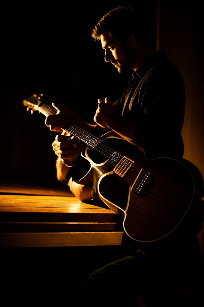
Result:
{"type": "Polygon", "coordinates": [[[123,231],[122,223],[0,222],[0,232],[123,231]]]}

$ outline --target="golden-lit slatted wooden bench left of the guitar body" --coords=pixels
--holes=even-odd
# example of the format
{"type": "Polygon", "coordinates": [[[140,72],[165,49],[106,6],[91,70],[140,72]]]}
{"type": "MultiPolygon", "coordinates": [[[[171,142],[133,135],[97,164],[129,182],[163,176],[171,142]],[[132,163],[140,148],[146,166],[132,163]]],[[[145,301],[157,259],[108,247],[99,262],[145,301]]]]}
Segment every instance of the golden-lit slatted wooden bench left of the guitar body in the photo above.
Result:
{"type": "Polygon", "coordinates": [[[0,247],[121,244],[122,220],[105,204],[52,188],[1,186],[0,193],[0,247]]]}

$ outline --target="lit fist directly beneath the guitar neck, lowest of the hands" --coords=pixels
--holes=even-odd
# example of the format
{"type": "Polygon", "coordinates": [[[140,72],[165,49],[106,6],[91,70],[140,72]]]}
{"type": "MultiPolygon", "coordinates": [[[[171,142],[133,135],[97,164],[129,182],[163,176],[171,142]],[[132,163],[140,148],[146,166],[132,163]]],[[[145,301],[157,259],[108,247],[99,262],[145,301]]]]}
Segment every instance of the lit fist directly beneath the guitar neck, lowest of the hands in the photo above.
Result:
{"type": "Polygon", "coordinates": [[[83,143],[77,138],[59,134],[52,146],[57,157],[64,159],[68,165],[73,165],[83,147],[83,143]]]}

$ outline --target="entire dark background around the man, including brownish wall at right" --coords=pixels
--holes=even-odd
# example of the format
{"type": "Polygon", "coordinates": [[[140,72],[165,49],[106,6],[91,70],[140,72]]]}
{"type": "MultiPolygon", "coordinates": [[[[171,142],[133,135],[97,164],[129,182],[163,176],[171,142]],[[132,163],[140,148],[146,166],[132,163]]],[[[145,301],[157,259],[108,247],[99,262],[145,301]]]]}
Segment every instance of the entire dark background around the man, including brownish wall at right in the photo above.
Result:
{"type": "MultiPolygon", "coordinates": [[[[156,2],[2,5],[1,182],[66,187],[56,178],[51,144],[57,133],[45,126],[44,115],[31,115],[22,102],[33,93],[42,93],[50,105],[59,103],[93,122],[99,98],[117,99],[131,72],[121,75],[105,63],[104,51],[91,33],[104,14],[121,5],[143,12],[149,20],[152,48],[164,49],[182,73],[186,86],[184,157],[204,174],[201,6],[193,0],[159,1],[156,29],[156,2]]],[[[59,305],[69,302],[71,293],[77,302],[77,287],[82,289],[88,274],[119,256],[120,246],[4,251],[5,285],[12,289],[19,285],[15,296],[8,292],[7,300],[11,296],[22,300],[26,294],[33,300],[36,293],[40,299],[43,293],[43,301],[49,297],[52,302],[55,297],[59,305]],[[19,284],[21,278],[24,286],[28,281],[26,291],[19,284]]]]}

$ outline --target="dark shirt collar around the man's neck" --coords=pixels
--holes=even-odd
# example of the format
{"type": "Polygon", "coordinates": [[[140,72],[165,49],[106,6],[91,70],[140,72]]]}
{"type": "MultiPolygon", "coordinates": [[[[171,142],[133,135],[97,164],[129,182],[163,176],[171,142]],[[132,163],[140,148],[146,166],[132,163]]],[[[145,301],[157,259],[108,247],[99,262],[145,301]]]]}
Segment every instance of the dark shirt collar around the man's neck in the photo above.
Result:
{"type": "Polygon", "coordinates": [[[133,72],[132,76],[141,79],[152,67],[166,59],[167,57],[164,50],[156,51],[137,70],[135,70],[135,72],[133,72]]]}

